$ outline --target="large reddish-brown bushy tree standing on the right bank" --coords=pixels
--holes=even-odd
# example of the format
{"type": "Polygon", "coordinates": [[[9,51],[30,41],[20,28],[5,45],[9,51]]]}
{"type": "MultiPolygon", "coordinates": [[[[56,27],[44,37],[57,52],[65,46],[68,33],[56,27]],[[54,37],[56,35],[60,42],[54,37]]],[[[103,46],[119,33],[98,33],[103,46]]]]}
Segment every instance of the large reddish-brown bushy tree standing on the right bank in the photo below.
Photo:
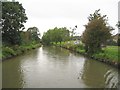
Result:
{"type": "Polygon", "coordinates": [[[111,38],[110,31],[113,30],[108,25],[106,15],[101,16],[99,10],[88,17],[88,24],[85,25],[85,31],[82,35],[82,42],[85,44],[85,50],[89,54],[96,53],[101,50],[101,46],[111,38]]]}

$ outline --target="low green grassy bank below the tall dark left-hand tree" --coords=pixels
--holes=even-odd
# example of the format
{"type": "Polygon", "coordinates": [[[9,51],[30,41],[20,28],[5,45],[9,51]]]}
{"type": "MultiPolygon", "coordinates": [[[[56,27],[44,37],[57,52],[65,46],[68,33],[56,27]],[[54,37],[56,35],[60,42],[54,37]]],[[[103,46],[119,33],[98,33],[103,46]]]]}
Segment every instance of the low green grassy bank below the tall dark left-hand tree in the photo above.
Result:
{"type": "Polygon", "coordinates": [[[27,52],[28,50],[35,49],[37,47],[40,47],[41,44],[29,44],[29,45],[15,45],[15,46],[2,46],[2,54],[0,55],[0,58],[2,60],[20,55],[22,53],[27,52]]]}

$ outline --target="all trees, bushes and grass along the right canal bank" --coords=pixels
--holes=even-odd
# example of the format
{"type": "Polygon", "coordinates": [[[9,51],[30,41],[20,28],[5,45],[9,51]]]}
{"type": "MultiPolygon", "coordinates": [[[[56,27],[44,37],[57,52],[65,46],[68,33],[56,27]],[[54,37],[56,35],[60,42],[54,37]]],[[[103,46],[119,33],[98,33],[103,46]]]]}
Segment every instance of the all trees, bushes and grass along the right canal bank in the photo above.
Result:
{"type": "MultiPolygon", "coordinates": [[[[59,46],[116,67],[120,66],[118,53],[120,36],[118,34],[114,40],[111,34],[114,28],[109,25],[107,15],[101,15],[99,12],[100,9],[90,14],[79,39],[73,35],[75,29],[70,31],[65,27],[56,27],[44,33],[43,44],[59,46]]],[[[119,27],[119,23],[117,26],[119,27]]]]}

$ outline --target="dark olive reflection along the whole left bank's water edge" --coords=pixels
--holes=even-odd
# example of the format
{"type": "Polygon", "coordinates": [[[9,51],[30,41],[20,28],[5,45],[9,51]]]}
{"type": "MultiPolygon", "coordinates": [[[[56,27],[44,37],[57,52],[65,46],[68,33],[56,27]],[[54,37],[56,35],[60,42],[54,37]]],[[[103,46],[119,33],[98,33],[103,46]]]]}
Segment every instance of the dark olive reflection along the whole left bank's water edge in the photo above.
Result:
{"type": "MultiPolygon", "coordinates": [[[[35,58],[36,51],[27,52],[24,55],[14,57],[3,61],[2,63],[2,87],[3,88],[22,88],[26,81],[24,80],[24,63],[32,62],[31,57],[35,58]],[[30,56],[29,56],[30,55],[30,56]]],[[[33,59],[34,60],[34,59],[33,59]]]]}

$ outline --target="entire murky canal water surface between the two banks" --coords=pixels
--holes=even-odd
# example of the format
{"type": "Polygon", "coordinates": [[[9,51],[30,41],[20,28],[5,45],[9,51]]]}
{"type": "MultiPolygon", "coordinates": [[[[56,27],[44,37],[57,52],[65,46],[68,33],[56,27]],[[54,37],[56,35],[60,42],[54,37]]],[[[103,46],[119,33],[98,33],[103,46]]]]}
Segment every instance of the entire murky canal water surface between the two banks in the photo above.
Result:
{"type": "Polygon", "coordinates": [[[117,85],[118,69],[54,46],[40,47],[2,63],[3,88],[115,88],[117,85]]]}

